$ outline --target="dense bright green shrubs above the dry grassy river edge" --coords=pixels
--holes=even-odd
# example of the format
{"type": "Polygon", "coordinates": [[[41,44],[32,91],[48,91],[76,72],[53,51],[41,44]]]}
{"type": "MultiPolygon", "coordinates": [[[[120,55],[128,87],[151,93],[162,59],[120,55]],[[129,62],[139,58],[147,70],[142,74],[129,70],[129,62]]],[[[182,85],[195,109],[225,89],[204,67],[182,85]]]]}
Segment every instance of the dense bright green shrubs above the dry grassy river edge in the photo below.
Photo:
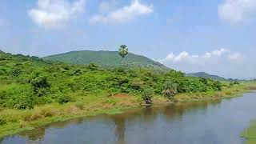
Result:
{"type": "MultiPolygon", "coordinates": [[[[182,72],[167,73],[147,69],[103,69],[44,62],[40,58],[1,53],[0,106],[32,109],[51,102],[75,102],[79,96],[143,95],[149,88],[154,95],[221,90],[221,83],[204,78],[186,78],[182,72]],[[172,85],[170,85],[172,83],[172,85]]],[[[152,95],[150,94],[150,95],[152,95]]]]}

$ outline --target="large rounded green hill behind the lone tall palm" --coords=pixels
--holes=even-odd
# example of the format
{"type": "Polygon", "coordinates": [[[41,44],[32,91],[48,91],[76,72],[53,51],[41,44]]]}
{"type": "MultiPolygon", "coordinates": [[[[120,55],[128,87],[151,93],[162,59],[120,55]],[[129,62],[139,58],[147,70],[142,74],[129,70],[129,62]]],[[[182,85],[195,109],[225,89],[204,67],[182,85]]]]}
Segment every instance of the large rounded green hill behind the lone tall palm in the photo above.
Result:
{"type": "MultiPolygon", "coordinates": [[[[118,55],[117,51],[71,51],[65,54],[50,55],[43,59],[71,64],[95,63],[106,67],[118,67],[122,64],[122,58],[118,55]]],[[[130,67],[148,67],[158,70],[168,70],[166,66],[159,62],[154,62],[150,58],[131,53],[126,55],[123,64],[130,67]]]]}

